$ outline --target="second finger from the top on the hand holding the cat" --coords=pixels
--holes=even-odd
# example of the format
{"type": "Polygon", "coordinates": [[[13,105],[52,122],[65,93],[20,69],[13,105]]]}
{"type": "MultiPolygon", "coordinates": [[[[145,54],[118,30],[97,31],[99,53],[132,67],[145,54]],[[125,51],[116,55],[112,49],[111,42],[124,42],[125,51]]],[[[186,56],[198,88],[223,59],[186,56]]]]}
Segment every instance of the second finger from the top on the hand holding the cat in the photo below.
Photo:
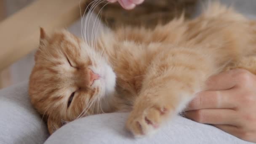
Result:
{"type": "Polygon", "coordinates": [[[202,91],[197,93],[195,99],[193,99],[188,107],[185,109],[197,110],[197,109],[234,109],[237,107],[237,102],[234,99],[233,90],[227,91],[202,91]]]}

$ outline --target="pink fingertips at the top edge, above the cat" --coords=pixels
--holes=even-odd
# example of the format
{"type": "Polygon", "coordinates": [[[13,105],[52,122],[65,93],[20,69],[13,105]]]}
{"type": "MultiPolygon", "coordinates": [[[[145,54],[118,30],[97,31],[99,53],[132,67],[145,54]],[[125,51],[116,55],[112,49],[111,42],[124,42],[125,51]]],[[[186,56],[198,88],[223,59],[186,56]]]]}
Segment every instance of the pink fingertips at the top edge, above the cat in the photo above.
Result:
{"type": "Polygon", "coordinates": [[[107,0],[107,1],[109,1],[110,3],[115,3],[118,1],[118,3],[120,3],[120,5],[127,10],[131,10],[135,8],[136,5],[139,5],[144,2],[144,0],[107,0]]]}

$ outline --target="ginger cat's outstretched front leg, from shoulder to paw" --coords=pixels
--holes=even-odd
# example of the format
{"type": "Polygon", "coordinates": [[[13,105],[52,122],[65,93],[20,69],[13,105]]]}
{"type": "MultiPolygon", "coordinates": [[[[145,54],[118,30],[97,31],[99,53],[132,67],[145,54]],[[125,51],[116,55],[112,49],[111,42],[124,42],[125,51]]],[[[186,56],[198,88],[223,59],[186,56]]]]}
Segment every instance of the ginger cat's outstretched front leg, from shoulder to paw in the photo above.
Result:
{"type": "Polygon", "coordinates": [[[191,49],[160,53],[146,73],[126,128],[136,137],[153,133],[202,90],[213,72],[213,63],[191,49]]]}

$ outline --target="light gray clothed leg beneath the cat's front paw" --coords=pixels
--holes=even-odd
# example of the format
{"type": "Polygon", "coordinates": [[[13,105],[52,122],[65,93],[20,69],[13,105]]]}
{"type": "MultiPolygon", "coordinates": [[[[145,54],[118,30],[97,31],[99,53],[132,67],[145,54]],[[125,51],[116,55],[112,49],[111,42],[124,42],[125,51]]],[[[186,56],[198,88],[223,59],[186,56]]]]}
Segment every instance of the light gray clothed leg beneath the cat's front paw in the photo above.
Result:
{"type": "Polygon", "coordinates": [[[178,116],[155,135],[134,139],[124,128],[127,116],[111,113],[84,117],[64,125],[45,144],[252,144],[178,116]]]}

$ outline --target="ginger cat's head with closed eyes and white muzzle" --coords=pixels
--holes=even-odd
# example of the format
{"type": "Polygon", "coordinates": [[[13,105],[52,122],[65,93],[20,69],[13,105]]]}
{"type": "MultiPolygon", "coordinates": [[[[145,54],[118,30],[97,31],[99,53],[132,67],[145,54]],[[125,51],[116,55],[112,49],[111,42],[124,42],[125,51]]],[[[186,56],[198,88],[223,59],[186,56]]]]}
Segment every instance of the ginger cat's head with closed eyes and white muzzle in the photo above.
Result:
{"type": "Polygon", "coordinates": [[[48,36],[40,29],[29,95],[50,133],[63,122],[107,109],[106,96],[114,91],[115,73],[101,52],[66,30],[48,36]]]}

